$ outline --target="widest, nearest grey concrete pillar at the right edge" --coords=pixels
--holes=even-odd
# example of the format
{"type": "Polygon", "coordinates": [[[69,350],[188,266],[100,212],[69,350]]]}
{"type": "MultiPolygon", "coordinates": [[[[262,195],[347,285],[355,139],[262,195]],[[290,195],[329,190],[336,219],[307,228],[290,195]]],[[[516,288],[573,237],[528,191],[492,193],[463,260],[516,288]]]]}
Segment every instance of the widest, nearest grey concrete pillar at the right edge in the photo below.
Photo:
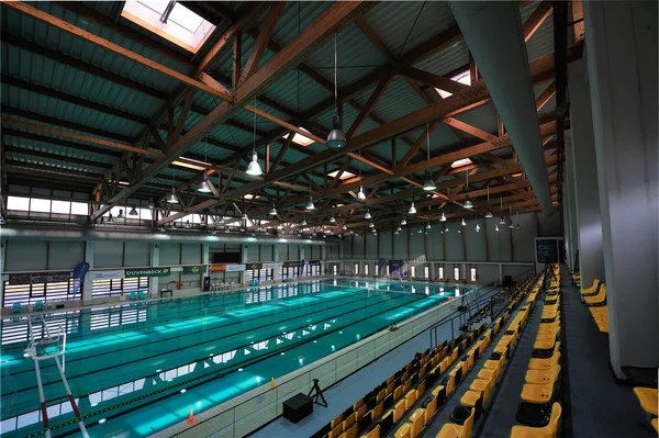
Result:
{"type": "Polygon", "coordinates": [[[656,1],[585,1],[611,364],[659,366],[656,1]]]}

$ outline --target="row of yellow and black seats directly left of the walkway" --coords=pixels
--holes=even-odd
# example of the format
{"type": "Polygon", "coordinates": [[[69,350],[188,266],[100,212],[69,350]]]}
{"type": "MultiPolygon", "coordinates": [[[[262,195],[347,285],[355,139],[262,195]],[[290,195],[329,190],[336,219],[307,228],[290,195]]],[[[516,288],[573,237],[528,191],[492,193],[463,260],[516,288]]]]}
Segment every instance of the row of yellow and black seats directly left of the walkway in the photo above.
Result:
{"type": "Polygon", "coordinates": [[[557,402],[561,372],[560,272],[558,266],[552,269],[559,280],[551,281],[545,297],[534,351],[520,395],[522,403],[515,415],[518,425],[512,428],[511,438],[554,438],[558,435],[561,415],[561,405],[557,402]]]}

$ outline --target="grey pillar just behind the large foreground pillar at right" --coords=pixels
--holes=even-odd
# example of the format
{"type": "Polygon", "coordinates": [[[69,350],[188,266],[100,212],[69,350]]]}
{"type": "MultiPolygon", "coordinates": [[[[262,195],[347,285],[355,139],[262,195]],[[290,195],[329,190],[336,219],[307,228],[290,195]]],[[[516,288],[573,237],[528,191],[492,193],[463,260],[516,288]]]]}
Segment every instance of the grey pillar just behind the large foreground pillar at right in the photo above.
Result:
{"type": "Polygon", "coordinates": [[[581,288],[590,288],[594,279],[604,279],[602,254],[602,220],[597,193],[597,168],[590,88],[585,61],[578,59],[568,66],[570,125],[572,126],[572,170],[574,205],[579,227],[579,272],[581,288]]]}

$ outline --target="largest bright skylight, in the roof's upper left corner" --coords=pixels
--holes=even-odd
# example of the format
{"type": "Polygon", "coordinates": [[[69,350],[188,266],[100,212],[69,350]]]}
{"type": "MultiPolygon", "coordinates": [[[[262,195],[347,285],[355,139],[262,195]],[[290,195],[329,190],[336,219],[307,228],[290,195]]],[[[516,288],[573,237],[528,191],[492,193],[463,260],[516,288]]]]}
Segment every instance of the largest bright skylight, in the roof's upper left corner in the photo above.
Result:
{"type": "Polygon", "coordinates": [[[215,26],[176,1],[127,0],[121,16],[197,53],[215,26]]]}

